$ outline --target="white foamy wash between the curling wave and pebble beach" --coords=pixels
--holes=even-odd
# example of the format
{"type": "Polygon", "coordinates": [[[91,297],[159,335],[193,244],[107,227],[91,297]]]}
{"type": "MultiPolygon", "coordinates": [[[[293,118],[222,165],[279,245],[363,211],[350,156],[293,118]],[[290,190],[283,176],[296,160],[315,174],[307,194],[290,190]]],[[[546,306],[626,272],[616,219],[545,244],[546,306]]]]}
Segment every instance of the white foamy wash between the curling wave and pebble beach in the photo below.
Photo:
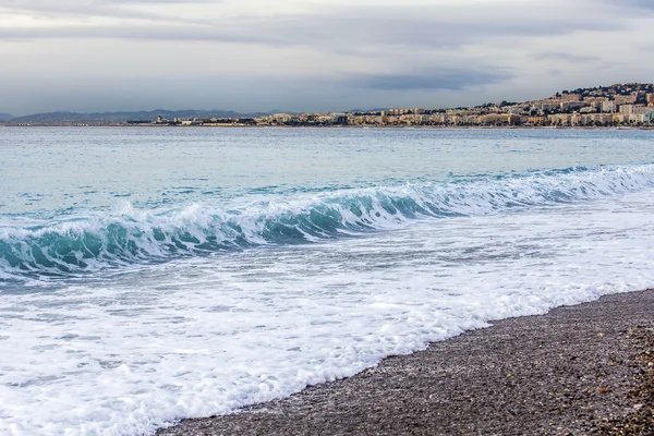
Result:
{"type": "Polygon", "coordinates": [[[413,221],[3,294],[0,433],[148,434],[491,319],[650,287],[653,195],[413,221]]]}

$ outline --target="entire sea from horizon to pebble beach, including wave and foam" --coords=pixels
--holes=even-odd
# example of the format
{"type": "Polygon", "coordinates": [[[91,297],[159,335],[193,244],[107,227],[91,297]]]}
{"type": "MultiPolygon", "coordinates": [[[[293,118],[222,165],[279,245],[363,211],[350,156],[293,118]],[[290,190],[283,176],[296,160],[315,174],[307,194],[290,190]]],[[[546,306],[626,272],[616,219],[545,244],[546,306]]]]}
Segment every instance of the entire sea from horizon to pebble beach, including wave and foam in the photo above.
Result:
{"type": "Polygon", "coordinates": [[[654,286],[654,132],[0,129],[0,434],[150,435],[654,286]]]}

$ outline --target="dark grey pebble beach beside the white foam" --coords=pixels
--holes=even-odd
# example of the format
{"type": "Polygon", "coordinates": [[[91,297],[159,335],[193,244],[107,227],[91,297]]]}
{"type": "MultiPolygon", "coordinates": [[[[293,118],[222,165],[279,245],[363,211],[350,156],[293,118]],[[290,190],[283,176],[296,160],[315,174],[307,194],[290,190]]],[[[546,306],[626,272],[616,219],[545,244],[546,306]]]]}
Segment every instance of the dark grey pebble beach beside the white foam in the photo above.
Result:
{"type": "Polygon", "coordinates": [[[608,295],[157,435],[654,435],[653,326],[652,290],[608,295]]]}

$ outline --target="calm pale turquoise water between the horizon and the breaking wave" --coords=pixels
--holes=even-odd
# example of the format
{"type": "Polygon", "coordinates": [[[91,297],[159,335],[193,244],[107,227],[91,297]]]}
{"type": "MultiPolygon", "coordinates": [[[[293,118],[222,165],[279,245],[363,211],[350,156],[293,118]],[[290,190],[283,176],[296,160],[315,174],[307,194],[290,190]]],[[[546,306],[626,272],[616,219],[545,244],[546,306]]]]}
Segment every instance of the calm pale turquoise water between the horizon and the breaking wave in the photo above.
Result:
{"type": "Polygon", "coordinates": [[[2,214],[234,199],[650,162],[651,133],[570,130],[3,129],[2,214]]]}

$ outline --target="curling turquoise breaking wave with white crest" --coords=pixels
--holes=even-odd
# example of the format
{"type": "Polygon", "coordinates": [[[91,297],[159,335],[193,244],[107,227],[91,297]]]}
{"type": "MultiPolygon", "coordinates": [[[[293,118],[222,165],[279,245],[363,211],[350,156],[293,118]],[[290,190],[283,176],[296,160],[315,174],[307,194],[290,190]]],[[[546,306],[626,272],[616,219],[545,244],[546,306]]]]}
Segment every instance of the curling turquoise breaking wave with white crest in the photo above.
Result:
{"type": "Polygon", "coordinates": [[[384,230],[408,220],[497,214],[654,186],[654,165],[568,168],[276,196],[235,208],[195,204],[87,213],[37,226],[0,223],[0,280],[102,268],[384,230]]]}

